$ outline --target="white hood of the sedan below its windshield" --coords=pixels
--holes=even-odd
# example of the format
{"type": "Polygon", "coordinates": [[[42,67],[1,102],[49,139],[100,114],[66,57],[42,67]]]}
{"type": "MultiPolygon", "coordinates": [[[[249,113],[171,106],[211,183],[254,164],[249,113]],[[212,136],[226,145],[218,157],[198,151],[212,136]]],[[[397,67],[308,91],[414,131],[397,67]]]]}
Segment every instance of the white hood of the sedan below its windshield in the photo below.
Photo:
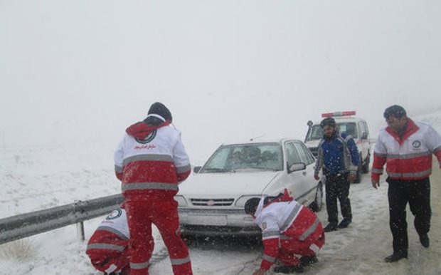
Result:
{"type": "Polygon", "coordinates": [[[262,194],[281,172],[228,172],[193,174],[179,185],[179,193],[191,197],[238,197],[262,194]]]}

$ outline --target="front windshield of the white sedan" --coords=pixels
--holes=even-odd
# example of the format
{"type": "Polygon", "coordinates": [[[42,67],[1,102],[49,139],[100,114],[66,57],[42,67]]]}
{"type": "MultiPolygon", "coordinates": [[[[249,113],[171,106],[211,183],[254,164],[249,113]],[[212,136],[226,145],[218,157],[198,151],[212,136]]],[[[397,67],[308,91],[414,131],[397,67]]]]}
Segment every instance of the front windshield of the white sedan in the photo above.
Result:
{"type": "Polygon", "coordinates": [[[220,147],[203,166],[201,173],[282,169],[282,148],[279,143],[252,143],[220,147]]]}

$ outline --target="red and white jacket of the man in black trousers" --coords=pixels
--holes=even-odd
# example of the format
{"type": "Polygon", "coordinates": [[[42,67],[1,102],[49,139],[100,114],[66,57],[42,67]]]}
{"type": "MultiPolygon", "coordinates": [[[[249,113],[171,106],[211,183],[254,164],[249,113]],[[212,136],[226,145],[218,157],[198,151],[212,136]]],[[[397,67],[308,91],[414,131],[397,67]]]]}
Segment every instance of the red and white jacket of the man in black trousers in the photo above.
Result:
{"type": "Polygon", "coordinates": [[[373,152],[372,180],[379,180],[386,163],[388,177],[421,180],[432,173],[432,154],[441,167],[441,136],[428,124],[413,122],[400,137],[390,128],[381,130],[373,152]]]}

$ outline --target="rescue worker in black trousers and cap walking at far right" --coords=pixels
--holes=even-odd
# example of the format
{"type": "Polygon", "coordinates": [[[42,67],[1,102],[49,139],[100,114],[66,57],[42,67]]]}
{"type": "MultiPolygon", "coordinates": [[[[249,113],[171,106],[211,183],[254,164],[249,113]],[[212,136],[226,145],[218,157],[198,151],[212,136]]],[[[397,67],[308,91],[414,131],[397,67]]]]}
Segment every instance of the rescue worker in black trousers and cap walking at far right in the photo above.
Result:
{"type": "Polygon", "coordinates": [[[414,122],[405,109],[392,105],[384,111],[388,127],[378,135],[373,152],[371,182],[377,189],[386,165],[388,177],[389,226],[393,237],[393,254],[386,262],[408,257],[408,225],[406,205],[415,216],[415,229],[423,247],[429,247],[430,181],[432,154],[441,167],[441,137],[428,124],[414,122]]]}

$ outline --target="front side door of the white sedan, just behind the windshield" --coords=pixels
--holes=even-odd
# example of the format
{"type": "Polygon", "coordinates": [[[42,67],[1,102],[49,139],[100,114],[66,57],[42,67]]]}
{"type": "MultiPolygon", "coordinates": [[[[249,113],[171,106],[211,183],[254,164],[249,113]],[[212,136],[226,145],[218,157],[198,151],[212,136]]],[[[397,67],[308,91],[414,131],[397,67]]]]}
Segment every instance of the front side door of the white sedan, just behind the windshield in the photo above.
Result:
{"type": "MultiPolygon", "coordinates": [[[[287,182],[289,194],[291,194],[297,202],[307,205],[309,201],[309,198],[307,197],[309,191],[307,180],[311,180],[308,179],[308,177],[313,177],[314,174],[310,174],[308,169],[289,172],[289,167],[294,164],[302,163],[302,159],[296,147],[296,142],[289,141],[285,143],[285,155],[287,157],[287,182]]],[[[306,163],[304,164],[306,165],[306,163]]]]}

